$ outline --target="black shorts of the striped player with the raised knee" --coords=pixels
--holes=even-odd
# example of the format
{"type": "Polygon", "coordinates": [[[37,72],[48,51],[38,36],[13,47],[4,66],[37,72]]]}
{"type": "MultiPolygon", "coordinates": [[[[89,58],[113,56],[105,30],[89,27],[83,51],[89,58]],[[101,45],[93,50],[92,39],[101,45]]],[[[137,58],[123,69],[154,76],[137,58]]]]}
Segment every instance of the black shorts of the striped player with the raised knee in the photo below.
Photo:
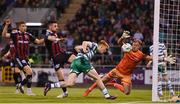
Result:
{"type": "Polygon", "coordinates": [[[58,71],[60,68],[63,68],[64,64],[68,63],[68,59],[71,55],[72,53],[62,53],[53,58],[55,71],[58,71]]]}

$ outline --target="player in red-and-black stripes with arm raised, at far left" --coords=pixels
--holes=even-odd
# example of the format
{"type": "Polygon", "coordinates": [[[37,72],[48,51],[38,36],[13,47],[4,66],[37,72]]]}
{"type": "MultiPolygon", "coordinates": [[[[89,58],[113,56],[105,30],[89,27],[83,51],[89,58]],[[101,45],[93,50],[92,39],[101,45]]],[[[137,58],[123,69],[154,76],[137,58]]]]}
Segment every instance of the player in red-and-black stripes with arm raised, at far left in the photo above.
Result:
{"type": "Polygon", "coordinates": [[[2,32],[2,36],[6,38],[10,38],[13,41],[15,51],[15,63],[18,65],[18,68],[26,72],[26,78],[19,84],[19,89],[21,93],[24,93],[24,85],[27,84],[29,91],[28,95],[34,95],[31,91],[32,84],[32,69],[28,62],[28,50],[29,43],[33,42],[36,44],[44,43],[44,39],[37,39],[32,34],[26,32],[27,26],[24,21],[20,21],[17,23],[18,31],[8,33],[7,28],[11,24],[11,21],[6,20],[5,26],[2,32]]]}

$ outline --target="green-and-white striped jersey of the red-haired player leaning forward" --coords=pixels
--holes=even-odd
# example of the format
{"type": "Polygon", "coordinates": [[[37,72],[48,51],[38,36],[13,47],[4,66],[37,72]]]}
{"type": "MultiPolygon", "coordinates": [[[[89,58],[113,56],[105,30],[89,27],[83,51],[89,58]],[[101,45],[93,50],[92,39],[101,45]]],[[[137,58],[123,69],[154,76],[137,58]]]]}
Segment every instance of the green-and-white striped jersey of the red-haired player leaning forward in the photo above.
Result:
{"type": "Polygon", "coordinates": [[[79,52],[77,54],[77,58],[78,57],[85,57],[87,60],[91,60],[92,57],[95,55],[95,53],[97,52],[97,47],[98,47],[98,44],[97,43],[94,43],[94,42],[91,42],[91,45],[88,46],[88,52],[87,53],[84,53],[83,50],[81,52],[79,52]]]}

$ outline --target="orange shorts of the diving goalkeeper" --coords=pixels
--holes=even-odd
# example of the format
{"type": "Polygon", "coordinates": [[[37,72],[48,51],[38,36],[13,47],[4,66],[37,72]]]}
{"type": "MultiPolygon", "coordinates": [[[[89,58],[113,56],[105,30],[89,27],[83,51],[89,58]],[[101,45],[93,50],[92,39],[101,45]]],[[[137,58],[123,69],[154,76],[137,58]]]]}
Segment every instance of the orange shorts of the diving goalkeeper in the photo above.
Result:
{"type": "Polygon", "coordinates": [[[119,78],[123,84],[128,84],[129,86],[132,84],[131,75],[123,75],[116,68],[111,70],[107,75],[109,78],[119,78]]]}

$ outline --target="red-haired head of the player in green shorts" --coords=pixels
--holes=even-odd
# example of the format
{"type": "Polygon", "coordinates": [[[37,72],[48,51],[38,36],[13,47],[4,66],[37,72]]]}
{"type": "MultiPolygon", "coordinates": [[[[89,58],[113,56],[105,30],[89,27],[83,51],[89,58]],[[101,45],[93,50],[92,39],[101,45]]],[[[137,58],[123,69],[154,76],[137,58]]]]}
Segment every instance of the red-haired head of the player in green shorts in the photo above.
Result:
{"type": "Polygon", "coordinates": [[[105,41],[105,40],[101,40],[99,43],[98,43],[98,52],[99,53],[105,53],[107,52],[109,49],[109,45],[108,43],[105,41]]]}

